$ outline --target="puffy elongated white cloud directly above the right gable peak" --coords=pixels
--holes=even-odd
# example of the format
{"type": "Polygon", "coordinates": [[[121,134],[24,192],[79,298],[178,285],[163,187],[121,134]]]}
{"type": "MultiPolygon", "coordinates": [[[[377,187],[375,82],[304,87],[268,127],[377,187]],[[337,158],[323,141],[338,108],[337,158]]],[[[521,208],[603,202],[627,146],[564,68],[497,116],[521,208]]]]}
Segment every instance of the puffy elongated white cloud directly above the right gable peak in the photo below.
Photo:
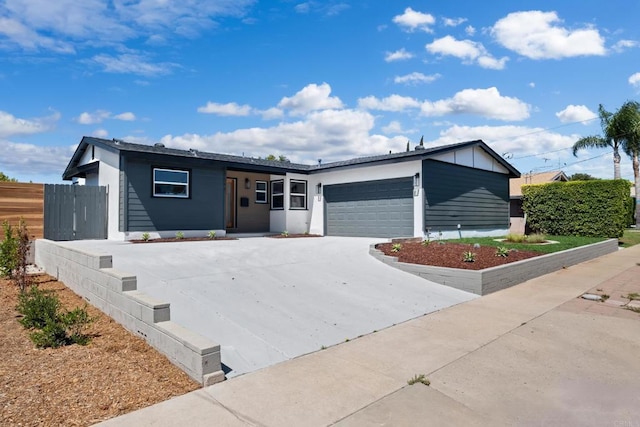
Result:
{"type": "Polygon", "coordinates": [[[435,102],[425,101],[422,114],[444,116],[448,114],[473,114],[496,120],[524,120],[529,117],[530,106],[518,98],[502,96],[495,87],[464,89],[452,98],[435,102]]]}

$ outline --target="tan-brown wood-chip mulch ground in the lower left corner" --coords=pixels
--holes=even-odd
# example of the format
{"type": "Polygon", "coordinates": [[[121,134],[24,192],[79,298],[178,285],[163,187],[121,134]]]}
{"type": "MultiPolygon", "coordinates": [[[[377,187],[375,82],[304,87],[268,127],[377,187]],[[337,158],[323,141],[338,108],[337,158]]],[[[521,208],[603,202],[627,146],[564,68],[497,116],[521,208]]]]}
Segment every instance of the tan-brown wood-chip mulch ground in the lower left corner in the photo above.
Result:
{"type": "MultiPolygon", "coordinates": [[[[42,289],[55,291],[63,307],[85,301],[54,278],[41,275],[42,289]]],[[[96,320],[86,346],[37,349],[18,323],[18,289],[0,279],[0,425],[86,426],[174,396],[200,385],[111,318],[87,305],[96,320]]]]}

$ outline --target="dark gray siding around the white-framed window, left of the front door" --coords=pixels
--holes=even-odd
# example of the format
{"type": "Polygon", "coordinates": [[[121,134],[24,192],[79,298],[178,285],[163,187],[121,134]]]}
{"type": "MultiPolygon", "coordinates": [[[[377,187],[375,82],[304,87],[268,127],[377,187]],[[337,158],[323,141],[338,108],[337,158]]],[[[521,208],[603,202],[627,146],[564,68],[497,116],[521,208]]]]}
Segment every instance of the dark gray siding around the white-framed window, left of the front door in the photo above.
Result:
{"type": "Polygon", "coordinates": [[[224,229],[223,167],[202,162],[152,163],[134,159],[128,159],[125,165],[124,231],[224,229]],[[190,170],[190,197],[153,197],[154,167],[190,170]]]}

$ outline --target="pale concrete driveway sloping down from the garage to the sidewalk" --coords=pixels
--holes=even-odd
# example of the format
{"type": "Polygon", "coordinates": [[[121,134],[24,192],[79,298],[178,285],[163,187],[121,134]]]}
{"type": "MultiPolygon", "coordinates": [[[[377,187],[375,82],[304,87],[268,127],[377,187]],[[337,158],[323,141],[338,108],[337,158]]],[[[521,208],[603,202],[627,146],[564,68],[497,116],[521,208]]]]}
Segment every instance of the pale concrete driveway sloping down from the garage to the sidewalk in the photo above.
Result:
{"type": "Polygon", "coordinates": [[[140,291],[171,303],[171,320],[219,343],[234,376],[477,297],[375,260],[381,240],[62,244],[112,255],[140,291]]]}

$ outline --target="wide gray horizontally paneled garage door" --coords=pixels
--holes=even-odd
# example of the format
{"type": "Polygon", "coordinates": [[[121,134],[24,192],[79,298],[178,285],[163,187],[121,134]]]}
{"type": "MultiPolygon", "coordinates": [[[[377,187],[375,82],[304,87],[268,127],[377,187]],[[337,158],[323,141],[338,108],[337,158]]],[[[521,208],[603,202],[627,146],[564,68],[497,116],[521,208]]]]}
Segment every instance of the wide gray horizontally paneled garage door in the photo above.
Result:
{"type": "Polygon", "coordinates": [[[413,177],[327,185],[326,234],[413,236],[413,177]]]}

